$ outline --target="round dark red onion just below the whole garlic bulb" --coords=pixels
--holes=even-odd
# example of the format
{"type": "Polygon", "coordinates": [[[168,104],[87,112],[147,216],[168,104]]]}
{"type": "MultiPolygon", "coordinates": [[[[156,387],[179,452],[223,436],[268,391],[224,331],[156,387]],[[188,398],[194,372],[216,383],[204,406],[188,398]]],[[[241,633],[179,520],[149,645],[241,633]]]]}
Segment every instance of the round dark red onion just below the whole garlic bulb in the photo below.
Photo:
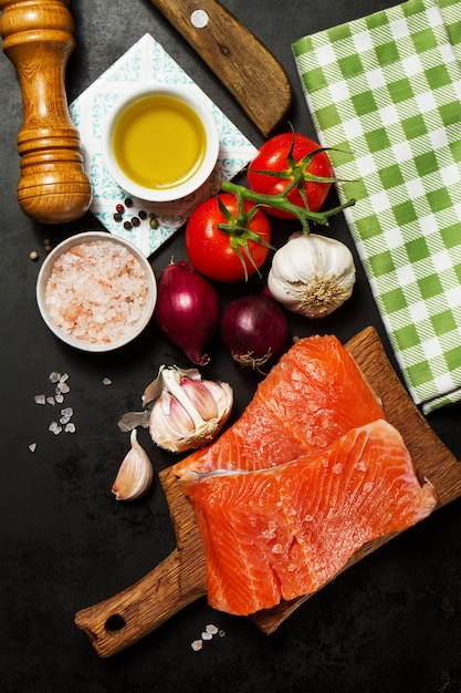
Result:
{"type": "Polygon", "coordinates": [[[289,339],[289,321],[268,289],[233,301],[221,320],[221,337],[237,363],[258,371],[279,356],[289,339]]]}

